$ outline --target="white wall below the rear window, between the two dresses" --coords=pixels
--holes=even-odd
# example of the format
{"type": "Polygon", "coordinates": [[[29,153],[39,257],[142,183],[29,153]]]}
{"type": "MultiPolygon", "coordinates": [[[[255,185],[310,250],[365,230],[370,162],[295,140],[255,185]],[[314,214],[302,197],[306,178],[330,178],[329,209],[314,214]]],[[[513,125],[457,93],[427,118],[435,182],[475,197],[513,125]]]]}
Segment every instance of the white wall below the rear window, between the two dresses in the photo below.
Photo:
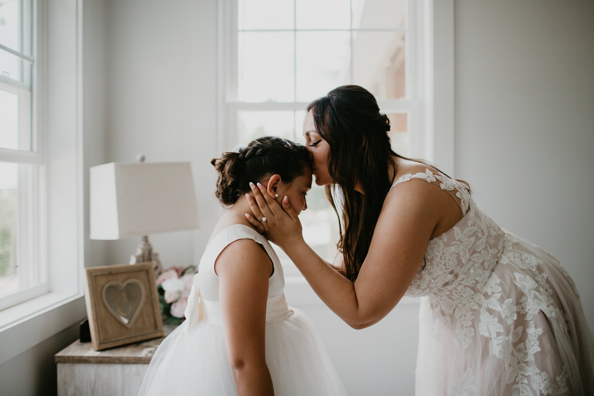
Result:
{"type": "MultiPolygon", "coordinates": [[[[287,300],[295,300],[289,291],[287,300]]],[[[311,318],[350,396],[415,394],[416,303],[396,306],[363,330],[353,330],[325,305],[296,306],[311,318]]]]}

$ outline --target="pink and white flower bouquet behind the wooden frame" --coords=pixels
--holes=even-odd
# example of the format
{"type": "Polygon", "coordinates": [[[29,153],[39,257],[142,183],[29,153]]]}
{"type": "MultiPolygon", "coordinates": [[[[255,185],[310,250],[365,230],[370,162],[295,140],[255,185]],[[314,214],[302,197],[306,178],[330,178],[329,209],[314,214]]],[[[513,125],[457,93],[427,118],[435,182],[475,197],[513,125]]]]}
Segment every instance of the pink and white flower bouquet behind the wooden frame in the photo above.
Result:
{"type": "Polygon", "coordinates": [[[179,325],[184,321],[184,311],[195,274],[196,266],[189,265],[185,268],[171,267],[157,278],[159,306],[164,322],[179,325]]]}

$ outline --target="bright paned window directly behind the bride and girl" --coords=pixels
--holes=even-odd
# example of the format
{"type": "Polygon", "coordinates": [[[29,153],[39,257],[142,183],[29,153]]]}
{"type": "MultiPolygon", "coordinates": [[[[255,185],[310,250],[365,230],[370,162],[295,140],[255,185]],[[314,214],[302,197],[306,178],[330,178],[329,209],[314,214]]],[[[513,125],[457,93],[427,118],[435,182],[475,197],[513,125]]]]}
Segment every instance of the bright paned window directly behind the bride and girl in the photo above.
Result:
{"type": "MultiPolygon", "coordinates": [[[[419,3],[222,0],[221,148],[264,135],[304,142],[307,104],[339,85],[357,84],[390,118],[394,151],[424,156],[419,3]]],[[[300,217],[306,241],[333,261],[338,221],[323,188],[312,188],[300,217]]]]}

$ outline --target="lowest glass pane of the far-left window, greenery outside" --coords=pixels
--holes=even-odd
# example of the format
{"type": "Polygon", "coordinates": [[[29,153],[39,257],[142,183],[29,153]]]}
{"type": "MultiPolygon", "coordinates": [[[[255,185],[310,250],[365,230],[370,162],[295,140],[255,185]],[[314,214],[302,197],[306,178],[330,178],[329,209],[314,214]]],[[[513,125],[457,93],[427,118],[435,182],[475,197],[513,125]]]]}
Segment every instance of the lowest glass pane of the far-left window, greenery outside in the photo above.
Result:
{"type": "Polygon", "coordinates": [[[18,289],[17,180],[17,164],[0,163],[0,295],[18,289]]]}

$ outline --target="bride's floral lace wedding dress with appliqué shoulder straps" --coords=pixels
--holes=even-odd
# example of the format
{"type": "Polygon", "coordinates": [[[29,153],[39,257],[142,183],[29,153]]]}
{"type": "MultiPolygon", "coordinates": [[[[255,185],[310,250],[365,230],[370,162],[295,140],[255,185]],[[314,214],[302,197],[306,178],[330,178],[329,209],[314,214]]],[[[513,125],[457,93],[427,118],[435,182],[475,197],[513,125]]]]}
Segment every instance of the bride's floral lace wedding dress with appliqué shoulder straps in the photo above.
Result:
{"type": "MultiPolygon", "coordinates": [[[[559,261],[501,229],[443,173],[462,219],[431,239],[407,296],[419,313],[416,395],[592,395],[594,341],[559,261]]],[[[589,265],[584,263],[584,265],[589,265]]]]}

